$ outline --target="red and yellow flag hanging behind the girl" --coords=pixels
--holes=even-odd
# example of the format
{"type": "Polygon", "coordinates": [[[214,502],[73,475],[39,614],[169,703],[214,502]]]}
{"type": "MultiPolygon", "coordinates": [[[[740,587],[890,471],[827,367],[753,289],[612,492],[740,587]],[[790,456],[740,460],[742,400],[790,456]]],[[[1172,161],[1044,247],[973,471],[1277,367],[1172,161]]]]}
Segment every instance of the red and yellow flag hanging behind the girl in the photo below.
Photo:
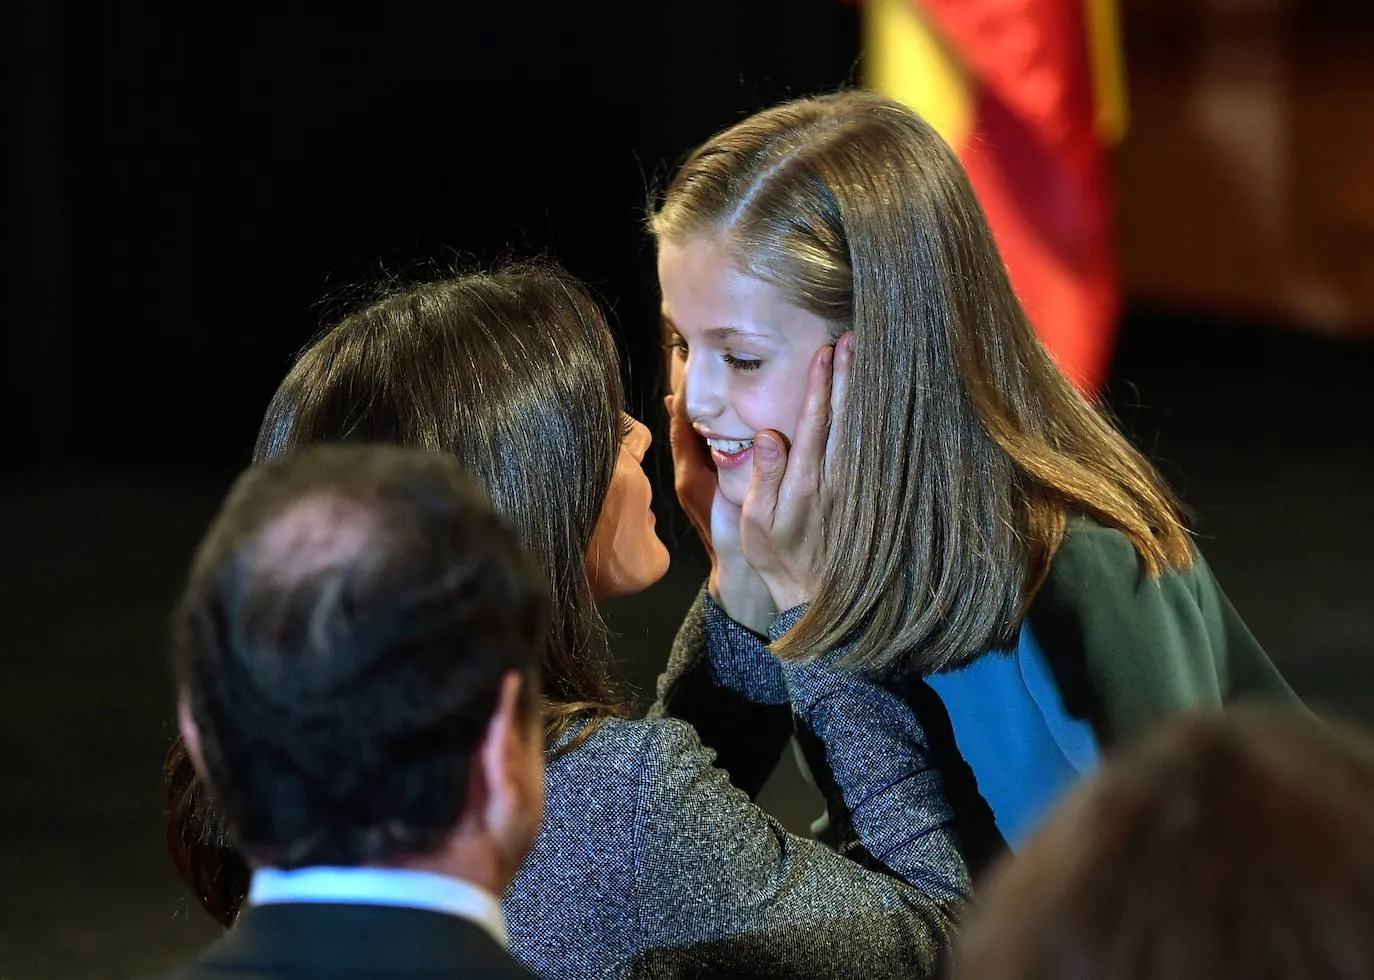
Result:
{"type": "Polygon", "coordinates": [[[866,0],[867,84],[955,148],[1022,307],[1087,393],[1120,311],[1106,148],[1125,129],[1116,0],[866,0]]]}

